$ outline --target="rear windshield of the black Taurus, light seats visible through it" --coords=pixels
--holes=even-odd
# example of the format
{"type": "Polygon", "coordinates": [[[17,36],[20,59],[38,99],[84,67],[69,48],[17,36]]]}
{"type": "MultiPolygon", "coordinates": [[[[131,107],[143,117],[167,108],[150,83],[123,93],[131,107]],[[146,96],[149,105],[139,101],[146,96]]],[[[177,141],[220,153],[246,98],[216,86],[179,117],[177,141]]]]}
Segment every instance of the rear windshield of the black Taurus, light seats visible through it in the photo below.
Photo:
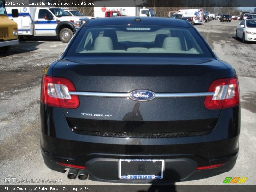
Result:
{"type": "Polygon", "coordinates": [[[193,28],[146,25],[84,27],[67,55],[93,53],[210,54],[193,28]]]}

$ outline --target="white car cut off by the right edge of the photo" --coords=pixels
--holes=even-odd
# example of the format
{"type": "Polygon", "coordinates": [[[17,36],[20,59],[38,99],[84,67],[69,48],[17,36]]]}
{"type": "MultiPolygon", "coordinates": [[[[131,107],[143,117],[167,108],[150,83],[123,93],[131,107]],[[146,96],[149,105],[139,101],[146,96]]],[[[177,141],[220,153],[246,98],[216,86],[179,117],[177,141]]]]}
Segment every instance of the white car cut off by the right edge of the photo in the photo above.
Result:
{"type": "Polygon", "coordinates": [[[256,41],[256,20],[242,20],[236,27],[237,38],[241,38],[243,43],[246,43],[246,41],[256,41]]]}

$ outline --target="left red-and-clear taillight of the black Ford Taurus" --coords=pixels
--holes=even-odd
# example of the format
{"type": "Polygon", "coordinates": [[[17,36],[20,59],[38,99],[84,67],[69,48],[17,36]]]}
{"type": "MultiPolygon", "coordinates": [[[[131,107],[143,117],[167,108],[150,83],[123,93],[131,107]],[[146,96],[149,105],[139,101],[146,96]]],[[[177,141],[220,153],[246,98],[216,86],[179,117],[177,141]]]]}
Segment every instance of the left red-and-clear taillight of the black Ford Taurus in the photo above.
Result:
{"type": "Polygon", "coordinates": [[[79,98],[77,95],[70,95],[69,91],[76,91],[70,80],[44,75],[41,102],[53,107],[77,108],[79,106],[79,98]]]}

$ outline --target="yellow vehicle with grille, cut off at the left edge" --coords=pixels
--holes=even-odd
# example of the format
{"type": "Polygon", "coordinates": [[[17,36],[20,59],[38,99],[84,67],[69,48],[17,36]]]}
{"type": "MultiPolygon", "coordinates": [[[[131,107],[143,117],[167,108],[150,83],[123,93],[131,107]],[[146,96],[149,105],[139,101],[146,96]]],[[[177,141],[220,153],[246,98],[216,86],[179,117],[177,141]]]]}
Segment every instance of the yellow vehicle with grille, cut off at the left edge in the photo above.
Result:
{"type": "MultiPolygon", "coordinates": [[[[13,11],[13,16],[18,17],[18,12],[13,11]]],[[[17,23],[8,18],[5,1],[0,0],[0,54],[8,52],[11,45],[18,43],[17,23]]]]}

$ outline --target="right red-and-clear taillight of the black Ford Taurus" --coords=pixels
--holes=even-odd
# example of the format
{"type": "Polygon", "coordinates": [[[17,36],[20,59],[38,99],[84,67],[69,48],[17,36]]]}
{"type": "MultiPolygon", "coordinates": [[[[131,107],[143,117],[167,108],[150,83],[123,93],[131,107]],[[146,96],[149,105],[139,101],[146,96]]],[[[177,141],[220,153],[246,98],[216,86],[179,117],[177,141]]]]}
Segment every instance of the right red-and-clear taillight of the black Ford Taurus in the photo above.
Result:
{"type": "Polygon", "coordinates": [[[239,85],[236,77],[217,79],[212,82],[208,92],[215,92],[213,96],[207,96],[204,106],[207,109],[224,109],[240,103],[239,85]]]}

